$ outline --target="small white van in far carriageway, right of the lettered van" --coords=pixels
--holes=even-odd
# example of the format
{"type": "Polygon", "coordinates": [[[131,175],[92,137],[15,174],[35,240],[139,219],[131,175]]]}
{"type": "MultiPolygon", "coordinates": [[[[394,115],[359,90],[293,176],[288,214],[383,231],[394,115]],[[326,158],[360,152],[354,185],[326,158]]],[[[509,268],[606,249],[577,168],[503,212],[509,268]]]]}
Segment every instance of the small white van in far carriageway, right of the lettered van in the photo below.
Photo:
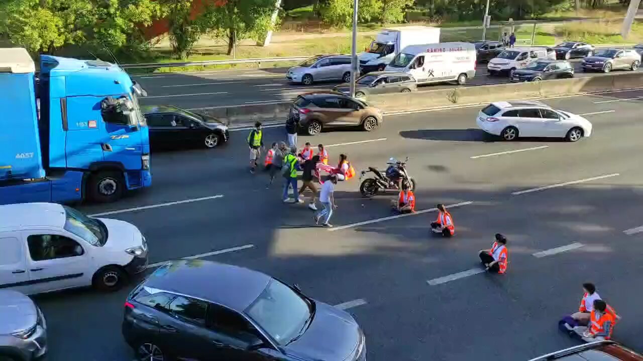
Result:
{"type": "Polygon", "coordinates": [[[526,46],[507,48],[497,57],[489,60],[487,71],[489,75],[505,73],[511,75],[514,70],[522,69],[535,60],[556,60],[556,51],[545,46],[526,46]]]}

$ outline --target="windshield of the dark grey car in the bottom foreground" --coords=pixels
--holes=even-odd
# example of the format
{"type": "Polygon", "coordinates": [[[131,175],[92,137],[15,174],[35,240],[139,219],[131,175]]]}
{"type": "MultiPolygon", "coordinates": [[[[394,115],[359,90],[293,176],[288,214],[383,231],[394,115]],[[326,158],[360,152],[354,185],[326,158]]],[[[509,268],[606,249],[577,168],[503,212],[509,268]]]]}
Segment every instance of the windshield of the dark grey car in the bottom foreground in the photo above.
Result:
{"type": "Polygon", "coordinates": [[[314,308],[289,286],[271,280],[245,313],[284,346],[305,331],[314,308]]]}

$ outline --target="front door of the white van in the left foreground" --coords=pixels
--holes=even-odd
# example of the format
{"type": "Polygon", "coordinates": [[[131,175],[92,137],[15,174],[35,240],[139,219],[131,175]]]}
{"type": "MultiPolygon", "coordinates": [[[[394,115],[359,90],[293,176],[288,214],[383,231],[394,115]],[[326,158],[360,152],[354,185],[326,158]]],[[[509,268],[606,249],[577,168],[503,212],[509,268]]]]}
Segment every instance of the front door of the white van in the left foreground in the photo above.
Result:
{"type": "Polygon", "coordinates": [[[91,283],[93,263],[81,245],[66,234],[48,230],[23,231],[27,240],[27,272],[30,294],[87,286],[91,283]]]}

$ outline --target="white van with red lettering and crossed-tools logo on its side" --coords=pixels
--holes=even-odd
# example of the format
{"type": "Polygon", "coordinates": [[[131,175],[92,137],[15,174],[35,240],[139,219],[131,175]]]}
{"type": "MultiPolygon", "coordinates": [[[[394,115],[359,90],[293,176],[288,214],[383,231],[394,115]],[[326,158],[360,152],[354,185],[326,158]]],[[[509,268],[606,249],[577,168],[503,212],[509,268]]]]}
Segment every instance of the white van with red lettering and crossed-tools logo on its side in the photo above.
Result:
{"type": "Polygon", "coordinates": [[[457,81],[464,85],[476,75],[476,48],[470,42],[439,42],[402,49],[386,71],[408,73],[417,84],[457,81]]]}

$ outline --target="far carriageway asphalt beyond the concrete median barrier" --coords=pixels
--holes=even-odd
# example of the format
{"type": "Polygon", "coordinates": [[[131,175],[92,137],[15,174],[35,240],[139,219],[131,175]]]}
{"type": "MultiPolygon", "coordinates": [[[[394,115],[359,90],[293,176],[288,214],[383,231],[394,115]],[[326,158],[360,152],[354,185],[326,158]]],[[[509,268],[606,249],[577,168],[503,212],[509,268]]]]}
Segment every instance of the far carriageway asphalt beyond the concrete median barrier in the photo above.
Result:
{"type": "MultiPolygon", "coordinates": [[[[583,73],[580,59],[573,59],[575,76],[604,76],[601,73],[583,73]]],[[[170,104],[184,109],[224,107],[227,105],[253,105],[291,101],[298,94],[328,90],[338,82],[321,82],[311,86],[293,84],[285,78],[285,68],[239,69],[203,71],[197,73],[167,73],[134,76],[148,92],[141,104],[170,104]]],[[[480,65],[476,76],[468,85],[502,84],[507,76],[489,76],[487,67],[480,65]]],[[[422,85],[420,91],[454,87],[453,84],[422,85]]]]}

